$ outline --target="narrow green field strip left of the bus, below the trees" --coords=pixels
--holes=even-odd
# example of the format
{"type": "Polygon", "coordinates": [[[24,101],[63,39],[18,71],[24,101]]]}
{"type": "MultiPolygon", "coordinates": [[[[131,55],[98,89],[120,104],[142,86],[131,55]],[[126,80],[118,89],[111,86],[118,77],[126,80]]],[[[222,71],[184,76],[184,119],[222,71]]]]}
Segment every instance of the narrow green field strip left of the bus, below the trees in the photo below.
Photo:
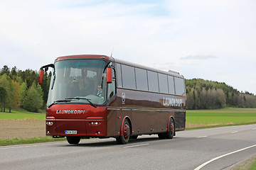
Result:
{"type": "Polygon", "coordinates": [[[12,110],[9,113],[9,110],[6,109],[6,112],[0,112],[0,119],[8,120],[45,120],[46,112],[42,113],[30,113],[23,109],[12,110]]]}

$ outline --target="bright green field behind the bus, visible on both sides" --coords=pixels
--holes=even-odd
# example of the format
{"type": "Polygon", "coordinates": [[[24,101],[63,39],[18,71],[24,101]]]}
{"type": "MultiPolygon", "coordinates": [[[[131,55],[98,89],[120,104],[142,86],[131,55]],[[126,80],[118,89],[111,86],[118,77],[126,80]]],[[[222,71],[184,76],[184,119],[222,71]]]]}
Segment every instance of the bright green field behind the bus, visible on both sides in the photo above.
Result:
{"type": "MultiPolygon", "coordinates": [[[[22,109],[0,112],[0,119],[45,120],[46,112],[29,113],[22,109]]],[[[256,108],[223,108],[216,110],[196,110],[186,112],[186,123],[198,125],[228,125],[256,123],[256,108]]]]}

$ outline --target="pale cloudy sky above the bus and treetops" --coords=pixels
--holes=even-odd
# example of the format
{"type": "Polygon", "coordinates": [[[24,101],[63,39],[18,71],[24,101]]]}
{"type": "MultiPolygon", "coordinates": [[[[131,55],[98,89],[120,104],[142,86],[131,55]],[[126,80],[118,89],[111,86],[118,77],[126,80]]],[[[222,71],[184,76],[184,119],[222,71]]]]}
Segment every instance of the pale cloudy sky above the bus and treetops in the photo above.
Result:
{"type": "Polygon", "coordinates": [[[108,55],[256,94],[255,0],[1,0],[0,69],[108,55]]]}

